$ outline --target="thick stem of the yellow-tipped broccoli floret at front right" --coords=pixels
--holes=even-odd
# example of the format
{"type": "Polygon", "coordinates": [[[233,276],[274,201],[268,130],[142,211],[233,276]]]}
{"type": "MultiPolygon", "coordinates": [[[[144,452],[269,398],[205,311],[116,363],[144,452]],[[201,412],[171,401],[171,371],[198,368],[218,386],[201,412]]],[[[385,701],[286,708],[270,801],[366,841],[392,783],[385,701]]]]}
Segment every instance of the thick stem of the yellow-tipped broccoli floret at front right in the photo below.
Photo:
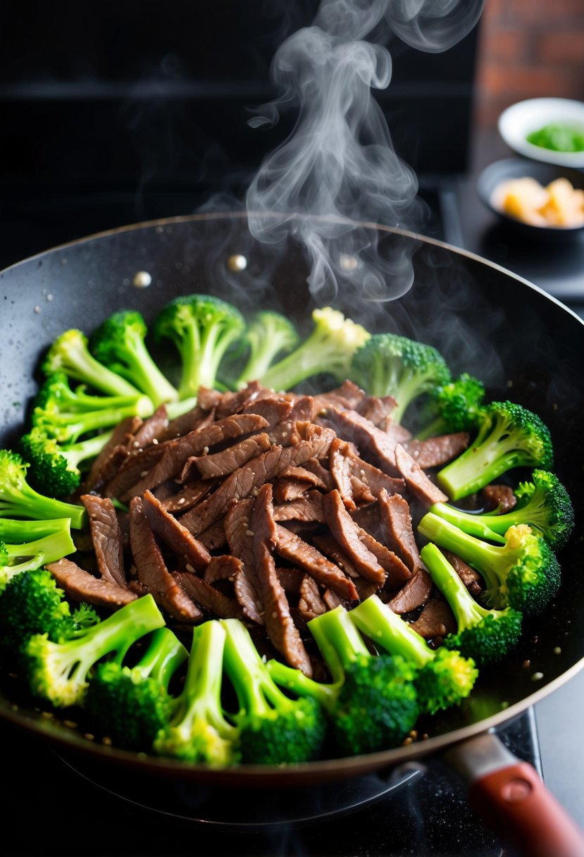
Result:
{"type": "Polygon", "coordinates": [[[390,655],[401,655],[417,668],[425,667],[435,657],[426,640],[376,595],[350,610],[349,618],[373,643],[383,646],[390,655]]]}

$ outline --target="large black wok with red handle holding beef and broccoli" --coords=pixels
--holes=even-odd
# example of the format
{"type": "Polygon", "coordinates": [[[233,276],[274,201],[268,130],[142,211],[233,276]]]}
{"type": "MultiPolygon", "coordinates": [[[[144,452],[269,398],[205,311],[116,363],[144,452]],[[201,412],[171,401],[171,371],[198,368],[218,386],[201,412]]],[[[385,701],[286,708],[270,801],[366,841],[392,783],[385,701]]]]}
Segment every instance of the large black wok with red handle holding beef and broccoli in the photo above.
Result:
{"type": "MultiPolygon", "coordinates": [[[[411,258],[413,285],[401,297],[378,301],[361,299],[341,283],[327,303],[372,331],[393,330],[436,345],[453,373],[472,372],[485,381],[493,398],[511,398],[537,411],[551,429],[556,471],[579,520],[584,508],[581,320],[537,287],[477,256],[405,231],[361,226],[378,241],[384,261],[411,258]]],[[[191,291],[226,297],[244,311],[276,307],[306,322],[314,305],[307,273],[307,258],[293,237],[259,243],[248,231],[244,213],[128,226],[7,268],[0,273],[0,444],[11,446],[18,436],[39,379],[39,357],[66,328],[89,332],[109,313],[129,307],[152,321],[170,297],[191,291]],[[247,267],[230,265],[233,255],[244,256],[247,267]],[[147,287],[144,273],[150,275],[147,287]]],[[[164,366],[164,354],[158,359],[164,366]]],[[[471,788],[471,802],[482,789],[483,807],[503,807],[527,854],[583,854],[580,832],[545,794],[535,772],[505,756],[495,737],[501,724],[569,680],[584,663],[584,557],[577,538],[559,559],[563,584],[551,608],[527,623],[520,646],[506,662],[482,672],[471,698],[434,717],[426,729],[428,740],[410,746],[290,769],[208,770],[97,746],[58,718],[42,716],[26,699],[15,699],[6,676],[0,686],[0,716],[55,746],[107,764],[230,787],[334,782],[445,752],[480,783],[471,788]]]]}

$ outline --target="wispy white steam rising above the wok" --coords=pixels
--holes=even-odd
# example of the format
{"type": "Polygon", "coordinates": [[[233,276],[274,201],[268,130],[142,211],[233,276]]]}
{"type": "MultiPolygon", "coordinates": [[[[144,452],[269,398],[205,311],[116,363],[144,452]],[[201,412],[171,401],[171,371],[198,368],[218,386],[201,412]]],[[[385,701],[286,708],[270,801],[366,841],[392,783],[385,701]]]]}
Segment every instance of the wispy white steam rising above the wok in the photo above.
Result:
{"type": "Polygon", "coordinates": [[[299,105],[298,118],[253,178],[247,213],[260,241],[293,235],[304,245],[320,303],[331,302],[341,284],[370,301],[393,299],[413,278],[409,255],[379,255],[376,231],[363,223],[412,229],[423,209],[414,171],[396,155],[372,97],[390,83],[390,52],[364,39],[389,24],[408,45],[442,51],[474,27],[483,2],[323,0],[313,26],[278,49],[272,78],[282,94],[250,124],[276,121],[278,105],[289,101],[299,105]]]}

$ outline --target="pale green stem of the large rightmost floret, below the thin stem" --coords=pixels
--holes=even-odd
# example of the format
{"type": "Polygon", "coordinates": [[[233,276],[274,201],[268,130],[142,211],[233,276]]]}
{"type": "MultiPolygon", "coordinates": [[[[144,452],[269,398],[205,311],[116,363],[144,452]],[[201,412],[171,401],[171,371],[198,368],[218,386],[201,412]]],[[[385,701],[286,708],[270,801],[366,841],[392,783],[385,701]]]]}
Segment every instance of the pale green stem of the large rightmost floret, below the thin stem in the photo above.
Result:
{"type": "Polygon", "coordinates": [[[498,587],[504,580],[510,564],[510,550],[506,543],[488,544],[432,512],[426,512],[420,520],[418,532],[476,568],[485,578],[488,589],[498,587]]]}

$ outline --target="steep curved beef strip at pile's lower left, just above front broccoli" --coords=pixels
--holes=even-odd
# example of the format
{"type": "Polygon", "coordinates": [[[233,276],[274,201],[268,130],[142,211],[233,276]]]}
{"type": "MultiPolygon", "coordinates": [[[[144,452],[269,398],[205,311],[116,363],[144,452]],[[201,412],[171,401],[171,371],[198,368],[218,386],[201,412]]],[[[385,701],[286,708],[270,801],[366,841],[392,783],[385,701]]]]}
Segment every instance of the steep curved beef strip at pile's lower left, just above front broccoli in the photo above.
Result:
{"type": "MultiPolygon", "coordinates": [[[[141,497],[130,501],[130,547],[136,569],[135,581],[145,587],[164,611],[179,621],[200,619],[200,610],[186,595],[164,564],[164,558],[146,518],[141,497]]],[[[130,582],[130,586],[132,586],[130,582]]]]}

